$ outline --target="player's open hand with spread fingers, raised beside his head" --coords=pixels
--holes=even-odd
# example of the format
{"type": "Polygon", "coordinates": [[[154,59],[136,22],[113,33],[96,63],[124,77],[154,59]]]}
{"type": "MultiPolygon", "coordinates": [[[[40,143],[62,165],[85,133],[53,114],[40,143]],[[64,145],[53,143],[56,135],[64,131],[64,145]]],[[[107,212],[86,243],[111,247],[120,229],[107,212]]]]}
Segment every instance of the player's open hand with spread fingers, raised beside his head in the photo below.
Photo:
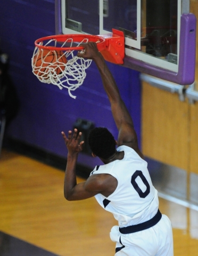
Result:
{"type": "Polygon", "coordinates": [[[77,132],[77,129],[75,129],[72,135],[72,131],[69,131],[68,137],[65,135],[64,132],[61,132],[65,145],[68,148],[68,153],[71,155],[78,154],[81,150],[83,150],[84,141],[81,141],[79,143],[82,133],[79,132],[77,136],[77,132]]]}

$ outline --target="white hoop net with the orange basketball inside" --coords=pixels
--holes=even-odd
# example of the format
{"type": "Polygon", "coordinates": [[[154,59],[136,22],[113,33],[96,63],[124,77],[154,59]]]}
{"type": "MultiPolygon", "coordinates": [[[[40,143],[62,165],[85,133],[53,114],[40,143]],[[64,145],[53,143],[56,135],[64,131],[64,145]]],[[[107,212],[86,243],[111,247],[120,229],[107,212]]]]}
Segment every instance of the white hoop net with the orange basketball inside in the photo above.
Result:
{"type": "MultiPolygon", "coordinates": [[[[73,39],[68,38],[61,47],[70,44],[73,45],[73,39]]],[[[83,39],[80,43],[87,43],[88,39],[83,39]]],[[[45,46],[54,44],[57,47],[56,39],[51,39],[45,46]]],[[[78,43],[78,45],[80,44],[78,43]]],[[[39,43],[43,45],[43,42],[39,43]]],[[[76,45],[76,46],[78,46],[76,45]]],[[[31,59],[32,72],[37,76],[40,82],[57,85],[61,90],[68,89],[70,97],[76,99],[71,91],[75,91],[83,84],[86,77],[86,69],[92,63],[92,60],[79,58],[74,55],[75,51],[50,51],[35,47],[31,59]]]]}

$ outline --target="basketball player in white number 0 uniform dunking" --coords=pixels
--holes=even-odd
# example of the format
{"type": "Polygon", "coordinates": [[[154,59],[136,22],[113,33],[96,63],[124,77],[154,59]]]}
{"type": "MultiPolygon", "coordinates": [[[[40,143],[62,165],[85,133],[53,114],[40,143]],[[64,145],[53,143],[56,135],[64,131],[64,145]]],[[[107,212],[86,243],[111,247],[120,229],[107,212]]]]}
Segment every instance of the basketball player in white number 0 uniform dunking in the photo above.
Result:
{"type": "Polygon", "coordinates": [[[69,201],[95,196],[106,211],[113,213],[119,225],[110,233],[116,242],[116,256],[172,256],[171,223],[158,209],[158,192],[138,148],[133,121],[96,44],[89,42],[83,46],[85,51],[78,56],[95,61],[119,135],[116,141],[103,127],[90,132],[92,155],[99,157],[103,165],[96,166],[85,182],[77,184],[75,168],[84,142],[79,142],[81,132],[77,135],[77,129],[73,134],[69,131],[68,137],[62,132],[68,148],[64,196],[69,201]]]}

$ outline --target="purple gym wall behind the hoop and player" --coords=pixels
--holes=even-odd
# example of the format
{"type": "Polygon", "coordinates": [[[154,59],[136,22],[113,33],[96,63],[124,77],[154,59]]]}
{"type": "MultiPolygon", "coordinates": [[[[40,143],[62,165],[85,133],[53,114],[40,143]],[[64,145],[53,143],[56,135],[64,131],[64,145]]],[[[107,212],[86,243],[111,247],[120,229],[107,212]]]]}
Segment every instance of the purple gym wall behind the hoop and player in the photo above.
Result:
{"type": "MultiPolygon", "coordinates": [[[[102,87],[95,63],[87,70],[83,85],[69,97],[67,90],[38,81],[32,74],[31,57],[37,38],[55,34],[55,1],[2,1],[0,15],[0,49],[10,56],[9,73],[19,95],[21,108],[11,123],[10,138],[27,143],[48,153],[67,157],[61,131],[72,129],[77,118],[107,127],[117,139],[110,104],[102,87]]],[[[91,22],[91,21],[90,21],[91,22]]],[[[141,144],[141,86],[139,73],[108,63],[119,86],[123,100],[134,119],[141,144]]],[[[79,155],[79,163],[94,167],[100,160],[79,155]]]]}

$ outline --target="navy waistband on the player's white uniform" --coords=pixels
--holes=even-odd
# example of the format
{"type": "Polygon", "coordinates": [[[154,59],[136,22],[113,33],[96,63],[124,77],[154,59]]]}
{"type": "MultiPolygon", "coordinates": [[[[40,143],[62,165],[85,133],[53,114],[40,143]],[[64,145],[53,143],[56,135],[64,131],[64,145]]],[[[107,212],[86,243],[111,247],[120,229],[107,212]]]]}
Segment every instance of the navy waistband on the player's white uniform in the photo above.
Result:
{"type": "Polygon", "coordinates": [[[142,231],[155,226],[156,223],[158,223],[161,220],[161,218],[162,218],[162,214],[158,209],[158,212],[155,214],[155,216],[151,220],[145,221],[137,225],[119,228],[119,231],[121,234],[130,234],[130,233],[142,231]]]}

